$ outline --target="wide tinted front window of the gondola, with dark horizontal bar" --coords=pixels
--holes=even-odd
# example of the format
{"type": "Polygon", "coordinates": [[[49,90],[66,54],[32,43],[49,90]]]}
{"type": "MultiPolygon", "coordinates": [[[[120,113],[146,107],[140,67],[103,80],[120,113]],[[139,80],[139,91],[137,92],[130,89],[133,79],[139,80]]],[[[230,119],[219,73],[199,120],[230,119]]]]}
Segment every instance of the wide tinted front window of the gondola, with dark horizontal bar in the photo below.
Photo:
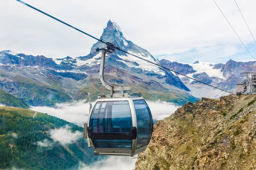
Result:
{"type": "Polygon", "coordinates": [[[90,117],[96,148],[131,149],[131,111],[128,101],[97,102],[90,117]]]}

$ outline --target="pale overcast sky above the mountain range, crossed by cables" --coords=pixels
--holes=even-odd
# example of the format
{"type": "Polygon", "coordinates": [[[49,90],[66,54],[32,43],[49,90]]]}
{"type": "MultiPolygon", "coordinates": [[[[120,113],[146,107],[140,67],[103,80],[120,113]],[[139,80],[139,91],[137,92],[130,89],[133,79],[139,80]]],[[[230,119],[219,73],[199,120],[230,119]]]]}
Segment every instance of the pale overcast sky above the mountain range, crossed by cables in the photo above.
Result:
{"type": "MultiPolygon", "coordinates": [[[[100,37],[114,20],[127,40],[159,59],[193,63],[253,60],[213,0],[24,0],[100,37]]],[[[234,0],[216,0],[256,59],[256,44],[234,0]]],[[[237,0],[256,37],[255,0],[237,0]]],[[[16,0],[0,0],[0,51],[63,58],[90,53],[96,40],[16,0]]]]}

